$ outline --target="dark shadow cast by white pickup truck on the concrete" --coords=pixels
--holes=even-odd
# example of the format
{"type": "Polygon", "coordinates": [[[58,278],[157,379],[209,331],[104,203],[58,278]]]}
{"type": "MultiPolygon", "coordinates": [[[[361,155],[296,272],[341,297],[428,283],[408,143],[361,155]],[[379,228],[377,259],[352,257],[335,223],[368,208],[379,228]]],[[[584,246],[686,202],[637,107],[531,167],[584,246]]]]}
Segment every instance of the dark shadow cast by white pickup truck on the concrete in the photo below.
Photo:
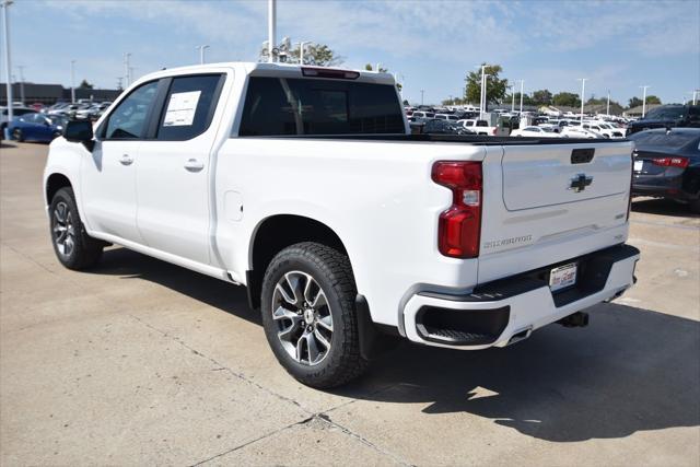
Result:
{"type": "MultiPolygon", "coordinates": [[[[260,324],[244,288],[126,248],[106,252],[93,272],[152,281],[260,324]]],[[[402,342],[332,393],[422,405],[428,415],[471,413],[551,442],[700,425],[700,323],[618,304],[590,312],[586,328],[551,325],[505,349],[402,342]]]]}

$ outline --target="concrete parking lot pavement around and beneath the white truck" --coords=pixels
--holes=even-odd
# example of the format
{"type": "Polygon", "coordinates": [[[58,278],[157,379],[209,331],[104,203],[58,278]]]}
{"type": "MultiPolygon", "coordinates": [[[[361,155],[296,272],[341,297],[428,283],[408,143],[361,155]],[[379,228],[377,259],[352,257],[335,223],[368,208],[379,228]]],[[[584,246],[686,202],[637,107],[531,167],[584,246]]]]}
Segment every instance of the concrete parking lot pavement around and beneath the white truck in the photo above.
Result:
{"type": "Polygon", "coordinates": [[[401,343],[332,392],[245,290],[113,247],[54,257],[48,147],[0,148],[0,464],[700,465],[700,218],[633,205],[634,289],[506,349],[401,343]]]}

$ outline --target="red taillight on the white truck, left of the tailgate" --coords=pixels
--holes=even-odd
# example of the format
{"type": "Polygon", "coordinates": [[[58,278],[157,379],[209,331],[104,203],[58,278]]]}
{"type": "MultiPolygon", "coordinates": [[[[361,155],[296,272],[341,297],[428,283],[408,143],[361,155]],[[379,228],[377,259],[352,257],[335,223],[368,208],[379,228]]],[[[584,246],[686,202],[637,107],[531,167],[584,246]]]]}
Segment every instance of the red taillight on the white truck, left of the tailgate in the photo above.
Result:
{"type": "Polygon", "coordinates": [[[440,214],[438,248],[453,258],[479,256],[482,176],[480,162],[435,162],[433,182],[452,190],[452,206],[440,214]]]}

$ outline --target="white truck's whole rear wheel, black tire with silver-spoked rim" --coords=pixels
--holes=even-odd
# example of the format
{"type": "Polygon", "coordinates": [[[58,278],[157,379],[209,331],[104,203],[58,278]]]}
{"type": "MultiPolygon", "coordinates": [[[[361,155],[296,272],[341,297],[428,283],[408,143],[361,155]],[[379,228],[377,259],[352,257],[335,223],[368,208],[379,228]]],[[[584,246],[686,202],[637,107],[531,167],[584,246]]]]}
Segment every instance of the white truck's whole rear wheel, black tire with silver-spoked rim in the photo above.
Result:
{"type": "Polygon", "coordinates": [[[326,245],[292,245],[270,262],[262,281],[265,334],[278,361],[301,383],[329,388],[365,370],[357,293],[348,257],[326,245]]]}

